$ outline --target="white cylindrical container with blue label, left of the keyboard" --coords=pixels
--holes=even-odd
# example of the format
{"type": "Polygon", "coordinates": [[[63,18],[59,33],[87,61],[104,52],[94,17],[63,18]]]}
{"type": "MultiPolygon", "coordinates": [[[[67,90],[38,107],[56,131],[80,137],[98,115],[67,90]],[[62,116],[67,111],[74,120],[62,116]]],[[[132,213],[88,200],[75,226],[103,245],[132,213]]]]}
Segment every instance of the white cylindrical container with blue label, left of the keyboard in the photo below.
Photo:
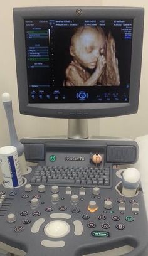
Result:
{"type": "Polygon", "coordinates": [[[16,147],[6,146],[0,148],[0,167],[4,186],[14,188],[23,184],[16,147]]]}

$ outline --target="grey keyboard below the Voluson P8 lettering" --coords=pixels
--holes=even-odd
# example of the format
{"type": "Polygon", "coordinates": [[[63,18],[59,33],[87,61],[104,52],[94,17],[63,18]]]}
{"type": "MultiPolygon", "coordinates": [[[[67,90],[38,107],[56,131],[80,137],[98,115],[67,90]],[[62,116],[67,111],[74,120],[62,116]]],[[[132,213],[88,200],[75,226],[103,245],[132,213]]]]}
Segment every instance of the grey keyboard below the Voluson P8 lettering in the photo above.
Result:
{"type": "Polygon", "coordinates": [[[37,166],[31,184],[77,186],[110,186],[110,168],[37,166]]]}

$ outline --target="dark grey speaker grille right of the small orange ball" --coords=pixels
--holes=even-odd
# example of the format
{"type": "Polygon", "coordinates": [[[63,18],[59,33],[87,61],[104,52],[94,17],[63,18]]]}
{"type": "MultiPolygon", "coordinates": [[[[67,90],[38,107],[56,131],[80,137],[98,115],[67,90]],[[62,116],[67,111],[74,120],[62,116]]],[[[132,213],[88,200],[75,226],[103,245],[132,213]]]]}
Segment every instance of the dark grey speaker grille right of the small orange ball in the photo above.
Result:
{"type": "Polygon", "coordinates": [[[137,150],[134,146],[107,146],[107,162],[109,163],[135,163],[137,150]]]}

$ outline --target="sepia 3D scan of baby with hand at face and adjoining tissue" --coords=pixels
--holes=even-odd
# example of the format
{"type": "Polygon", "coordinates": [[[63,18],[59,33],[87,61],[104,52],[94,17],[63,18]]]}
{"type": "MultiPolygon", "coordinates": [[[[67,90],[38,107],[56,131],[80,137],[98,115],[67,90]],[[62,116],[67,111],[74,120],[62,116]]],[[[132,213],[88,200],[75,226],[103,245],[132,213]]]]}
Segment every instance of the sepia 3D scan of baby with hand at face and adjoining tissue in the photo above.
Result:
{"type": "Polygon", "coordinates": [[[65,71],[66,86],[120,85],[115,41],[101,27],[84,26],[75,29],[71,37],[73,60],[65,71]]]}

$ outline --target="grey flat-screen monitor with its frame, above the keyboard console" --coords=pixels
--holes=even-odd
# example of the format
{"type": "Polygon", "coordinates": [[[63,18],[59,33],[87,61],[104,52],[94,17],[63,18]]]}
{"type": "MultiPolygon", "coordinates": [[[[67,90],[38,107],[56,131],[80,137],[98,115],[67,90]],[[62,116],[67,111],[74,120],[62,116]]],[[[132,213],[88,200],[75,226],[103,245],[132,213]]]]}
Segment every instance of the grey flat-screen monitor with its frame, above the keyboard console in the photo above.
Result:
{"type": "Polygon", "coordinates": [[[94,118],[137,112],[143,8],[14,8],[21,114],[94,118]]]}

